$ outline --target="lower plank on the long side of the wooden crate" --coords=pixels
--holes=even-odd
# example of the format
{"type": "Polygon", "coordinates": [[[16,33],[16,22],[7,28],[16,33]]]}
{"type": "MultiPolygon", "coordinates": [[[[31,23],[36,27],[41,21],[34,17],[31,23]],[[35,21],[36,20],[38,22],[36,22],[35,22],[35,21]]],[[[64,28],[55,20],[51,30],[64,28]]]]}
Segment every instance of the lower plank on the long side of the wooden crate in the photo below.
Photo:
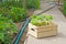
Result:
{"type": "Polygon", "coordinates": [[[56,34],[57,34],[57,30],[46,31],[46,32],[37,33],[37,37],[53,36],[56,34]]]}

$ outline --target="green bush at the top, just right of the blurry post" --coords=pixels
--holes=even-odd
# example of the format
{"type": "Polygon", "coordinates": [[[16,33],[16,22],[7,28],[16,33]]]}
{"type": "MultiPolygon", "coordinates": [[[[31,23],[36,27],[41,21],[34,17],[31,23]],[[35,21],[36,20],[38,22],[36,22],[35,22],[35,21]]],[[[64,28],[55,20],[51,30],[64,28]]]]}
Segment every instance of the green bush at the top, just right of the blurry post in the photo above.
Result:
{"type": "Polygon", "coordinates": [[[28,9],[40,9],[40,0],[26,0],[28,9]]]}

